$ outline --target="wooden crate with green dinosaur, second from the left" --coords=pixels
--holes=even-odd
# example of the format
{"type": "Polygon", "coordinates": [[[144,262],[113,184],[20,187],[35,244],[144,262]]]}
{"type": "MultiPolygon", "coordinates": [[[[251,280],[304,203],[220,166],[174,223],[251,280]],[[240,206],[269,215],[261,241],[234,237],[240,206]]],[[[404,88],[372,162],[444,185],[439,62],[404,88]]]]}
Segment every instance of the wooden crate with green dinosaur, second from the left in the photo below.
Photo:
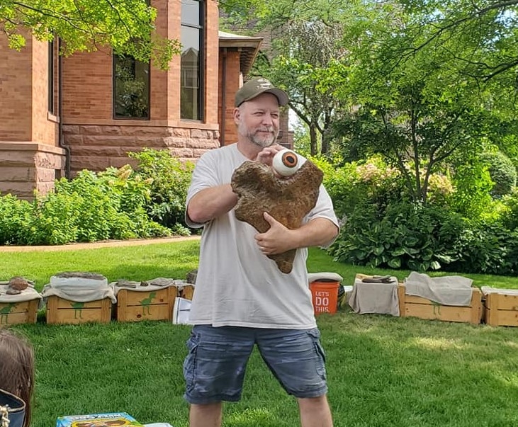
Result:
{"type": "Polygon", "coordinates": [[[89,321],[108,323],[111,320],[111,300],[75,302],[51,295],[47,297],[48,324],[79,324],[89,321]]]}

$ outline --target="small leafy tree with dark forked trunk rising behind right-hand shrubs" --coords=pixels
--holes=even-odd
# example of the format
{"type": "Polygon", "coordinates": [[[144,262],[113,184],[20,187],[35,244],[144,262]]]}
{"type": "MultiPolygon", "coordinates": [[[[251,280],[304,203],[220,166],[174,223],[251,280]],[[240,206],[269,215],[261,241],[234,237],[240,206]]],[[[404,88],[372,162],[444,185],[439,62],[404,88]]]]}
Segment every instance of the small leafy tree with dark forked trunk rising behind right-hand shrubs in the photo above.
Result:
{"type": "Polygon", "coordinates": [[[327,82],[349,103],[336,127],[342,147],[359,156],[382,154],[402,174],[412,200],[426,203],[432,173],[446,171],[453,154],[483,148],[496,94],[446,55],[453,40],[440,47],[424,42],[433,25],[420,29],[420,50],[400,59],[407,28],[420,16],[373,3],[359,17],[349,21],[344,40],[349,55],[327,82]]]}

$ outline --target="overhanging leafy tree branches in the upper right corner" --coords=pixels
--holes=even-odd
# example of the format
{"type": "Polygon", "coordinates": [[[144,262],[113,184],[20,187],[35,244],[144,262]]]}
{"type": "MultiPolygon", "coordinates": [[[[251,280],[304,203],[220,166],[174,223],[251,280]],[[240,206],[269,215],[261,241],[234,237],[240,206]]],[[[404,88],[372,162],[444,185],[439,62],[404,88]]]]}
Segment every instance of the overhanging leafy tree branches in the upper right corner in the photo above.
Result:
{"type": "Polygon", "coordinates": [[[415,16],[406,28],[401,59],[432,45],[462,64],[463,74],[485,83],[496,76],[511,79],[518,68],[518,0],[402,0],[415,16]],[[422,29],[427,36],[422,38],[422,29]]]}

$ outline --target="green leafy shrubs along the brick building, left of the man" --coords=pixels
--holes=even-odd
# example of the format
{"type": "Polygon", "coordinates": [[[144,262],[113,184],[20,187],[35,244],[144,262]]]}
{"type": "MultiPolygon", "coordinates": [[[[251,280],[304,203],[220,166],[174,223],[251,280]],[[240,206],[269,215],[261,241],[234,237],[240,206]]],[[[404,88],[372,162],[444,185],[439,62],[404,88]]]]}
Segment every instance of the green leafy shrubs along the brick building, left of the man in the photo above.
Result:
{"type": "Polygon", "coordinates": [[[56,181],[55,190],[35,195],[32,202],[13,195],[0,197],[0,244],[55,245],[188,234],[179,220],[183,220],[191,166],[183,166],[169,152],[147,149],[134,156],[141,160],[137,171],[130,165],[99,173],[84,170],[72,180],[56,181]],[[166,208],[167,203],[171,206],[166,208]],[[169,216],[157,215],[157,206],[169,216]]]}

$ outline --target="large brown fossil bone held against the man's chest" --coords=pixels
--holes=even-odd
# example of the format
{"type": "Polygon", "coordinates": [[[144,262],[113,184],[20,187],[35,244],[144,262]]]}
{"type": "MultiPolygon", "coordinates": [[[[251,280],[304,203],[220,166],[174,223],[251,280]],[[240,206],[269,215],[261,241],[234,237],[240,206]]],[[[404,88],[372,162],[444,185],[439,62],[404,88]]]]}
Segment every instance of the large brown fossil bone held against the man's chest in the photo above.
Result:
{"type": "MultiPolygon", "coordinates": [[[[309,160],[289,178],[278,178],[269,166],[245,161],[232,174],[232,190],[237,194],[236,218],[264,233],[270,224],[263,217],[268,212],[288,229],[297,229],[315,207],[324,174],[309,160]]],[[[293,268],[295,249],[268,255],[283,273],[293,268]]]]}

